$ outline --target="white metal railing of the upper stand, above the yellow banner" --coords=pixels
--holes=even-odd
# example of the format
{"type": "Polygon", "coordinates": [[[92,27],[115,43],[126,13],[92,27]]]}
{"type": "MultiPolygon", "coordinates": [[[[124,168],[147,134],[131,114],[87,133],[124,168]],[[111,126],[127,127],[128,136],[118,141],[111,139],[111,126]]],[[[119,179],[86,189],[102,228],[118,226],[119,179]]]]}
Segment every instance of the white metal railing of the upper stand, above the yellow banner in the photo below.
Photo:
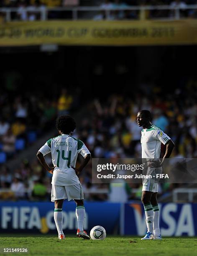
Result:
{"type": "MultiPolygon", "coordinates": [[[[186,5],[184,8],[177,6],[172,7],[170,5],[155,5],[155,6],[126,6],[126,7],[114,7],[114,8],[101,8],[99,6],[79,6],[79,7],[58,7],[58,8],[47,8],[45,6],[41,6],[38,8],[32,9],[31,7],[26,7],[21,10],[20,8],[0,8],[0,13],[5,14],[5,21],[11,21],[11,13],[16,12],[33,12],[33,13],[40,13],[40,20],[49,20],[48,13],[53,12],[63,12],[63,11],[69,11],[72,13],[72,20],[79,20],[79,12],[95,12],[95,11],[103,11],[105,12],[105,20],[110,20],[110,13],[111,11],[139,11],[139,19],[140,20],[146,20],[146,11],[147,10],[171,10],[174,11],[174,16],[170,17],[163,17],[163,18],[156,18],[159,20],[180,20],[181,17],[181,11],[184,10],[197,10],[197,5],[186,5]]],[[[87,19],[92,19],[92,17],[88,17],[87,19]]],[[[150,18],[148,18],[150,19],[150,18]]],[[[153,18],[155,19],[155,18],[153,18]]]]}

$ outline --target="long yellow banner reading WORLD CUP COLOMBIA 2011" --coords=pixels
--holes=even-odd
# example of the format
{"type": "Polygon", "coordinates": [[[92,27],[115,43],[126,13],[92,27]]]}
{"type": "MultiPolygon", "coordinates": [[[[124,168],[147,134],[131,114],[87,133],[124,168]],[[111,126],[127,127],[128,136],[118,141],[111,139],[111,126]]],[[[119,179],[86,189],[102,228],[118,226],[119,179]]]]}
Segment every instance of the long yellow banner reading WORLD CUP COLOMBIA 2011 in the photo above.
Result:
{"type": "Polygon", "coordinates": [[[197,20],[29,21],[0,26],[0,46],[197,44],[197,20]]]}

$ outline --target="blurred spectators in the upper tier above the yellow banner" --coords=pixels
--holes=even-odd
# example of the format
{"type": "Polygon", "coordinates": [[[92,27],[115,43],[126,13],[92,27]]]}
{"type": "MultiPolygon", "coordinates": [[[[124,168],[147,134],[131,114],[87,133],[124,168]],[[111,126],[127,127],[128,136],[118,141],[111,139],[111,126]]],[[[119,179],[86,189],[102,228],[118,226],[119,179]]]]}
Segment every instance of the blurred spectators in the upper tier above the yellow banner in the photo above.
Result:
{"type": "MultiPolygon", "coordinates": [[[[197,0],[101,0],[101,1],[79,1],[79,0],[1,0],[0,7],[17,7],[16,12],[11,13],[12,20],[40,20],[41,15],[38,10],[44,10],[47,8],[56,8],[56,7],[74,7],[74,6],[98,6],[104,10],[113,9],[113,8],[126,8],[129,6],[146,6],[146,5],[169,5],[172,8],[180,7],[181,8],[181,17],[196,18],[197,10],[187,10],[185,9],[186,5],[195,5],[197,0]],[[24,8],[27,8],[26,11],[24,8]]],[[[89,13],[90,14],[90,13],[89,13]]],[[[121,19],[139,19],[140,12],[137,10],[114,10],[106,17],[105,11],[98,11],[96,14],[88,15],[84,13],[84,16],[81,18],[90,18],[94,20],[121,20],[121,19]]],[[[174,10],[146,10],[146,18],[166,18],[174,17],[174,10]]],[[[48,11],[49,19],[70,19],[72,16],[69,12],[61,11],[48,11]]]]}

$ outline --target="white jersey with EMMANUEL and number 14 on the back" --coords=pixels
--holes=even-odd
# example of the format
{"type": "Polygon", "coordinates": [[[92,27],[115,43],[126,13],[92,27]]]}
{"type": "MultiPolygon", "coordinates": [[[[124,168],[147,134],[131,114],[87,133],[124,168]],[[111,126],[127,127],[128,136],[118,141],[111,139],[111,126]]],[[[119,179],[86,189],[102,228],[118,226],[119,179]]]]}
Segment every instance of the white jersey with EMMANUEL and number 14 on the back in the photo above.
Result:
{"type": "Polygon", "coordinates": [[[55,166],[51,184],[69,186],[80,183],[71,166],[75,167],[78,154],[83,157],[90,154],[82,141],[68,134],[62,134],[51,138],[39,151],[43,156],[51,152],[52,162],[55,166]]]}

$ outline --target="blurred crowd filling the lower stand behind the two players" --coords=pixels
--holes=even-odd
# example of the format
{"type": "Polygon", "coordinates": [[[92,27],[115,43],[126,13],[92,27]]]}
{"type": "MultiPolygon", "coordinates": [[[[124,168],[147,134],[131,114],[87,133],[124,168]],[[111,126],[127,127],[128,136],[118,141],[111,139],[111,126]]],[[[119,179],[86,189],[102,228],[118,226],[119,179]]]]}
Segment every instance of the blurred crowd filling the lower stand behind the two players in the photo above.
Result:
{"type": "MultiPolygon", "coordinates": [[[[153,114],[152,123],[161,127],[176,144],[172,157],[197,158],[195,88],[196,82],[191,80],[186,88],[164,95],[159,87],[141,84],[138,90],[143,93],[132,91],[130,97],[127,96],[129,93],[110,95],[105,102],[95,99],[87,103],[86,115],[77,120],[78,125],[73,136],[84,141],[95,158],[141,158],[141,128],[136,124],[136,113],[138,110],[147,109],[153,114]]],[[[4,142],[5,138],[26,138],[26,131],[36,127],[46,131],[48,122],[54,127],[57,115],[69,113],[74,102],[72,99],[65,89],[55,103],[32,96],[29,101],[25,97],[15,97],[13,104],[10,104],[3,95],[0,102],[3,110],[0,126],[2,150],[5,151],[5,143],[8,143],[8,148],[11,147],[12,150],[6,154],[13,153],[14,143],[4,142]],[[36,124],[40,124],[36,127],[33,125],[35,119],[36,124]]],[[[39,133],[38,130],[34,131],[39,133]]],[[[162,157],[165,146],[161,149],[162,157]]],[[[50,156],[47,159],[49,161],[50,156]]],[[[90,163],[80,175],[84,193],[87,192],[87,200],[140,199],[141,184],[119,184],[119,187],[114,184],[110,184],[110,187],[107,184],[92,184],[91,172],[90,163]],[[101,188],[107,192],[99,194],[101,188]]],[[[160,184],[159,195],[168,195],[179,185],[160,184]]],[[[9,170],[4,164],[1,166],[0,188],[10,188],[9,193],[0,193],[1,199],[50,200],[51,174],[43,170],[37,159],[33,162],[24,159],[14,170],[9,170]]]]}

